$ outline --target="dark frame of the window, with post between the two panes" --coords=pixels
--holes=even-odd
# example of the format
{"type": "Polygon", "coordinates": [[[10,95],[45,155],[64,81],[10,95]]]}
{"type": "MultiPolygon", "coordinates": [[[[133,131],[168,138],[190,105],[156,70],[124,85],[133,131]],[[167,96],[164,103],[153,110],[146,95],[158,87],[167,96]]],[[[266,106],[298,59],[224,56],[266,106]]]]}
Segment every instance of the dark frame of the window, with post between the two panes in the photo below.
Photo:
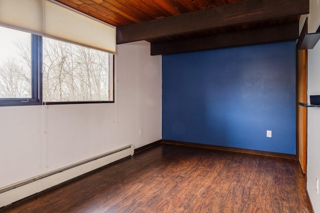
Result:
{"type": "MultiPolygon", "coordinates": [[[[42,36],[31,35],[31,98],[0,98],[0,106],[28,106],[28,105],[59,105],[59,104],[90,104],[114,103],[114,54],[110,54],[112,62],[109,67],[109,101],[43,101],[42,100],[42,36]],[[111,76],[112,74],[112,76],[111,76]]],[[[65,42],[65,41],[64,41],[65,42]]]]}

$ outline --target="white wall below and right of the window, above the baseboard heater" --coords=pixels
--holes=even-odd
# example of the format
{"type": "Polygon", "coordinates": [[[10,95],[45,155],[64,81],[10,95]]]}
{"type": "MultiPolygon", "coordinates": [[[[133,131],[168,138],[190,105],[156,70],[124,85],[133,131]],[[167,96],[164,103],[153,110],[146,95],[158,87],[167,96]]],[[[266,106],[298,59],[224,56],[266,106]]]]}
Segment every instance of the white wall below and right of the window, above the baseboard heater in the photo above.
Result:
{"type": "Polygon", "coordinates": [[[161,56],[145,41],[118,45],[115,79],[115,103],[0,107],[0,188],[160,140],[161,56]]]}

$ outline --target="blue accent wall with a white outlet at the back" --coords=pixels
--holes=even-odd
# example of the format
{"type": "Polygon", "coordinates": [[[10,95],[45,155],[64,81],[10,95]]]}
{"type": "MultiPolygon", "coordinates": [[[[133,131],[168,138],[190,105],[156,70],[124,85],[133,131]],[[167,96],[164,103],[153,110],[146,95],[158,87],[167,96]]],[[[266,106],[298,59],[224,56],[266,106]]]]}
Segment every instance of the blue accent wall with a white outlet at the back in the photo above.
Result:
{"type": "Polygon", "coordinates": [[[163,55],[162,138],[295,154],[295,44],[163,55]]]}

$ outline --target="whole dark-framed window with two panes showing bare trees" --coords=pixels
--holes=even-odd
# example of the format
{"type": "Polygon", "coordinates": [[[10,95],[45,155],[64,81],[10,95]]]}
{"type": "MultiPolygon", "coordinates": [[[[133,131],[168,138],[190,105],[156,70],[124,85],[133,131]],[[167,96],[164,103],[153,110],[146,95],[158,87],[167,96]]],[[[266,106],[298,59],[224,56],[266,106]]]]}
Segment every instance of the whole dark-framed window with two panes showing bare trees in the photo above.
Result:
{"type": "Polygon", "coordinates": [[[0,38],[1,106],[113,102],[111,54],[1,26],[0,38]]]}

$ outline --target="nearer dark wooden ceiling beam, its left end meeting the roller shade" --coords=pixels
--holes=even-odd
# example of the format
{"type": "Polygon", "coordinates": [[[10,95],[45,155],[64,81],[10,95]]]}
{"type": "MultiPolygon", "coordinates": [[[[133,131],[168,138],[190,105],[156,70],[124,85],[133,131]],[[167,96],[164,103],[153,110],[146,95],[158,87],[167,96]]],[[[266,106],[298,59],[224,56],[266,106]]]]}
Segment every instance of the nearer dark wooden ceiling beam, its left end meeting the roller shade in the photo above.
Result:
{"type": "Polygon", "coordinates": [[[119,26],[116,42],[151,40],[220,27],[306,14],[309,0],[243,0],[162,19],[119,26]]]}

